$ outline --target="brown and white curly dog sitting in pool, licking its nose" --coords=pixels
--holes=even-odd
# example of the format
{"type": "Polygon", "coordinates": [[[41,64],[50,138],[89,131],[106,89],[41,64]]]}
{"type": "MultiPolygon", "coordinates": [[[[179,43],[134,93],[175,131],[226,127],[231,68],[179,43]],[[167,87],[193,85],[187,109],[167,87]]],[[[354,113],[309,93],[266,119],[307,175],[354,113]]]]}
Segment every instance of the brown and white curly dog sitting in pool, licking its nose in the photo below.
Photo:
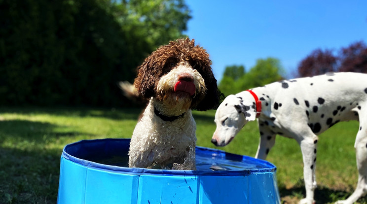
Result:
{"type": "Polygon", "coordinates": [[[194,40],[160,46],[139,67],[134,85],[149,103],[130,142],[129,167],[195,170],[191,109],[219,104],[209,54],[194,40]]]}

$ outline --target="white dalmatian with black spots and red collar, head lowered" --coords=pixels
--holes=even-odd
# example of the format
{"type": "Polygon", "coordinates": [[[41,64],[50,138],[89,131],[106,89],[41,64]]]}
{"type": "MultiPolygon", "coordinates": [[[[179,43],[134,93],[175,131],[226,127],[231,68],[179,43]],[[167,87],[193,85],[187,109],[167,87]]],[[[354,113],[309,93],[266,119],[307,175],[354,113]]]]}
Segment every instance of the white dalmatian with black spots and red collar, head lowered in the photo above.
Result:
{"type": "Polygon", "coordinates": [[[260,132],[256,158],[266,159],[276,135],[294,138],[300,145],[306,188],[301,204],[314,203],[318,135],[340,121],[358,120],[354,144],[358,184],[348,199],[337,204],[352,204],[367,193],[367,74],[329,72],[229,95],[217,109],[212,142],[227,145],[248,121],[256,118],[260,132]]]}

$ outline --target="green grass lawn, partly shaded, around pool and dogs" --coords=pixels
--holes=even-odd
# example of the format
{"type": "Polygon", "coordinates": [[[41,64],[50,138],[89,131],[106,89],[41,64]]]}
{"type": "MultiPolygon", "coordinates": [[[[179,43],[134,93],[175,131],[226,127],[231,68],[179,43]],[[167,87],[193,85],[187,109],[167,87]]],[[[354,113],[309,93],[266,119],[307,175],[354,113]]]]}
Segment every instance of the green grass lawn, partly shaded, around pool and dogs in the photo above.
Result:
{"type": "MultiPolygon", "coordinates": [[[[57,199],[63,147],[81,139],[129,138],[138,108],[0,108],[0,203],[54,204],[57,199]]],[[[211,142],[215,111],[193,115],[197,145],[211,142]]],[[[358,122],[336,124],[319,136],[315,191],[317,203],[333,203],[349,196],[357,182],[354,141],[358,122]]],[[[247,124],[227,146],[227,152],[255,156],[257,124],[247,124]]],[[[282,202],[296,203],[304,196],[302,155],[293,139],[277,136],[268,161],[277,166],[282,202]]],[[[367,199],[360,199],[367,203],[367,199]]]]}

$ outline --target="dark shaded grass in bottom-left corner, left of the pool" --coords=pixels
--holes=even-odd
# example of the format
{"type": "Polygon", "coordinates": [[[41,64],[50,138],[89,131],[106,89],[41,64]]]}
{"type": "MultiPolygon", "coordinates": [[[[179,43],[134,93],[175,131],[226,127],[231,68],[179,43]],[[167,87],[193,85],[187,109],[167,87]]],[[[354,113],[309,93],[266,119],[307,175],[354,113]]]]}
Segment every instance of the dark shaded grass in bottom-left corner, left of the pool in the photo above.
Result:
{"type": "Polygon", "coordinates": [[[60,155],[56,149],[0,148],[0,203],[56,203],[60,155]]]}

